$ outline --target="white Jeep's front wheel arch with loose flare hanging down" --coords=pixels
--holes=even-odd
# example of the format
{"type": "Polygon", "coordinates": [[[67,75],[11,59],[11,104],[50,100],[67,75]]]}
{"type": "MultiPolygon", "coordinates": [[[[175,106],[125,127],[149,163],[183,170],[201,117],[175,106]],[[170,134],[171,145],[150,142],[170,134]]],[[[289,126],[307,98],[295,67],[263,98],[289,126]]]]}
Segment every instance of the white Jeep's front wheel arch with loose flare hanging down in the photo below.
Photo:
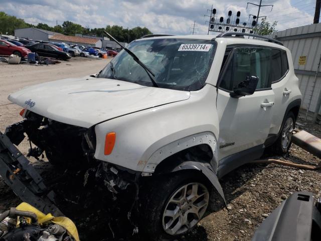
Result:
{"type": "Polygon", "coordinates": [[[206,132],[180,139],[159,148],[148,159],[144,171],[161,175],[194,170],[208,179],[226,204],[223,189],[216,175],[217,165],[217,140],[212,133],[206,132]]]}

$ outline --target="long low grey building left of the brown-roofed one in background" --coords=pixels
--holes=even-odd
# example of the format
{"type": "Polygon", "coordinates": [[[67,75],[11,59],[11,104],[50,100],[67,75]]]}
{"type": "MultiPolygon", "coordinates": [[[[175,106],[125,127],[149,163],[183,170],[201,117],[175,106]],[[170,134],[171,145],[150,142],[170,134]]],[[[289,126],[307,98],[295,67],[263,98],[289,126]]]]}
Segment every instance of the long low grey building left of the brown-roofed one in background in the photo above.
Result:
{"type": "Polygon", "coordinates": [[[37,28],[15,29],[15,36],[19,38],[28,38],[33,40],[49,41],[49,38],[57,35],[52,31],[37,28]]]}

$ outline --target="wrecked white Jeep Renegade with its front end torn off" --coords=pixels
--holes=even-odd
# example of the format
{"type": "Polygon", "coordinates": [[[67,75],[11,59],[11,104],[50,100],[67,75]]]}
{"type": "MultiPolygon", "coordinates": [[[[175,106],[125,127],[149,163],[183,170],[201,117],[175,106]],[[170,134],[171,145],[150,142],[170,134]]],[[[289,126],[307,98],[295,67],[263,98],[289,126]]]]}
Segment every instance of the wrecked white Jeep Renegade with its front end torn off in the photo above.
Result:
{"type": "Polygon", "coordinates": [[[203,217],[211,185],[224,199],[220,177],[291,145],[301,93],[290,51],[232,35],[147,36],[99,74],[10,94],[26,111],[7,136],[19,144],[23,130],[38,147],[30,155],[56,165],[98,163],[114,193],[150,180],[137,201],[143,229],[183,234],[203,217]]]}

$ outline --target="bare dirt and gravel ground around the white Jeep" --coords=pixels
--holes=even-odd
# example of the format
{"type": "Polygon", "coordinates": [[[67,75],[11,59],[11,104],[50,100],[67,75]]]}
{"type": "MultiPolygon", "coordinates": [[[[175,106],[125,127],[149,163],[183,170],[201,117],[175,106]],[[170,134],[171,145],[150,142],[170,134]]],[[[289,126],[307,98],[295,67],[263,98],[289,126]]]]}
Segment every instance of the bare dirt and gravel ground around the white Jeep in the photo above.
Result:
{"type": "MultiPolygon", "coordinates": [[[[106,63],[106,60],[80,58],[55,66],[13,66],[0,63],[0,130],[3,132],[6,126],[21,119],[21,108],[7,100],[10,92],[26,85],[95,73],[106,63]]],[[[321,137],[319,125],[301,120],[299,122],[300,128],[321,137]]],[[[19,148],[26,154],[27,143],[21,145],[19,148]]],[[[292,145],[289,156],[275,158],[310,165],[320,161],[296,145],[292,145]]],[[[265,216],[291,193],[303,190],[313,192],[316,197],[321,195],[320,171],[298,170],[275,164],[245,165],[223,177],[220,182],[229,209],[213,198],[207,216],[182,240],[250,240],[265,216]]],[[[0,212],[20,202],[1,181],[0,193],[0,212]]]]}

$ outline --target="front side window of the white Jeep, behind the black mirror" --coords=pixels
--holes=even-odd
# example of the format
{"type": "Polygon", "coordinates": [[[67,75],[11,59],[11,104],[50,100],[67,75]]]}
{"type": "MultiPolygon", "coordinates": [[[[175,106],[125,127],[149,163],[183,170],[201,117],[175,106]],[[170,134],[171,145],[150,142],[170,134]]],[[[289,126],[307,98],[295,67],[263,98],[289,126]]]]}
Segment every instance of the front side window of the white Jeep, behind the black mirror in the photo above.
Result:
{"type": "Polygon", "coordinates": [[[231,54],[221,76],[220,88],[233,91],[247,76],[259,77],[256,90],[271,87],[270,48],[239,47],[231,54]]]}

